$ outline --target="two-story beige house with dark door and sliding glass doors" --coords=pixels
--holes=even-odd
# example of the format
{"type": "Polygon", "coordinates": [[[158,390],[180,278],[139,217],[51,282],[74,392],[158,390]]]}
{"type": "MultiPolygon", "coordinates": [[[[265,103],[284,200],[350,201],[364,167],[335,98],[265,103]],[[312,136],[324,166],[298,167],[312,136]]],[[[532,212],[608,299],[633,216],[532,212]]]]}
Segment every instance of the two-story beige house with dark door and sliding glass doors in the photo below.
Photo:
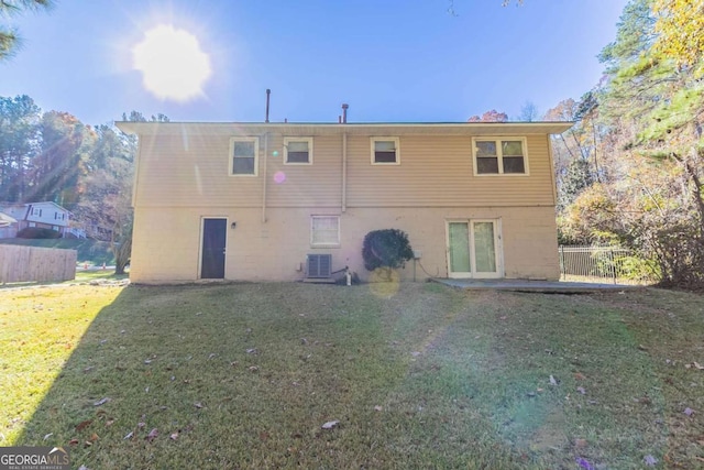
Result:
{"type": "Polygon", "coordinates": [[[550,134],[571,123],[118,127],[140,139],[133,282],[295,281],[326,259],[367,278],[364,236],[388,228],[416,252],[402,278],[559,277],[550,134]]]}

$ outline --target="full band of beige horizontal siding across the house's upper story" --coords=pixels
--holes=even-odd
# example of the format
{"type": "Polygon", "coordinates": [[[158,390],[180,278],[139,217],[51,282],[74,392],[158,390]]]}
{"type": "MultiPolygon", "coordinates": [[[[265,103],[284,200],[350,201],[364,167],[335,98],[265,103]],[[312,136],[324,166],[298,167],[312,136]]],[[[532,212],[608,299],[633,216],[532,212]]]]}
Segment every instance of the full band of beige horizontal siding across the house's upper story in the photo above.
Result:
{"type": "MultiPolygon", "coordinates": [[[[341,134],[312,135],[311,165],[284,164],[292,135],[256,136],[258,176],[232,176],[228,135],[142,135],[135,205],[261,208],[266,197],[266,207],[341,207],[341,134]]],[[[350,135],[346,206],[554,205],[548,136],[528,135],[527,154],[529,175],[476,176],[471,135],[402,135],[399,165],[373,165],[370,136],[350,135]]]]}

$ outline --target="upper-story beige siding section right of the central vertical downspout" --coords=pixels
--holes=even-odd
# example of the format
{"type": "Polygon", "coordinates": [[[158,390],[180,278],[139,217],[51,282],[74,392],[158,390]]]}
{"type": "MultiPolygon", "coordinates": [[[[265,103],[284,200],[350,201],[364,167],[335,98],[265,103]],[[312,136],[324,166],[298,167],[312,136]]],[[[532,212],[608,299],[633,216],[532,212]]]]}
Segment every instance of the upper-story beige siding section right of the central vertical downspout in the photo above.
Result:
{"type": "Polygon", "coordinates": [[[472,138],[404,135],[400,165],[371,165],[367,136],[348,140],[348,206],[554,205],[548,136],[528,135],[529,175],[474,176],[472,138]]]}

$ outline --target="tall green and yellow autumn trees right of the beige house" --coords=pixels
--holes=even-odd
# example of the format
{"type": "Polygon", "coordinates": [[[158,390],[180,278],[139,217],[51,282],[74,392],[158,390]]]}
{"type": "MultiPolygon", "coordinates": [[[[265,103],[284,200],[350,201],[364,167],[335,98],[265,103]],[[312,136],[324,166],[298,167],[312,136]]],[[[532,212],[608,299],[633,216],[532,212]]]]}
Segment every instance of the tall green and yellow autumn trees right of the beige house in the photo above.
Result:
{"type": "Polygon", "coordinates": [[[631,0],[604,77],[546,120],[564,243],[640,252],[664,284],[704,287],[704,0],[631,0]]]}

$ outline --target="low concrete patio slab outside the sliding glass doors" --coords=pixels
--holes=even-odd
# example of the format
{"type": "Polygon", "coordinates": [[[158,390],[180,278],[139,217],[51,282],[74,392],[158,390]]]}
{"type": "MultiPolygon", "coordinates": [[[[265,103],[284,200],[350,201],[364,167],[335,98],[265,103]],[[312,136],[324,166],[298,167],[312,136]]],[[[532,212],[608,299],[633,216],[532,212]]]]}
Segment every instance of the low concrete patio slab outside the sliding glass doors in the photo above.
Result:
{"type": "Polygon", "coordinates": [[[622,292],[646,288],[646,286],[642,285],[531,280],[451,280],[433,277],[431,281],[464,289],[542,292],[546,294],[588,294],[594,292],[622,292]]]}

